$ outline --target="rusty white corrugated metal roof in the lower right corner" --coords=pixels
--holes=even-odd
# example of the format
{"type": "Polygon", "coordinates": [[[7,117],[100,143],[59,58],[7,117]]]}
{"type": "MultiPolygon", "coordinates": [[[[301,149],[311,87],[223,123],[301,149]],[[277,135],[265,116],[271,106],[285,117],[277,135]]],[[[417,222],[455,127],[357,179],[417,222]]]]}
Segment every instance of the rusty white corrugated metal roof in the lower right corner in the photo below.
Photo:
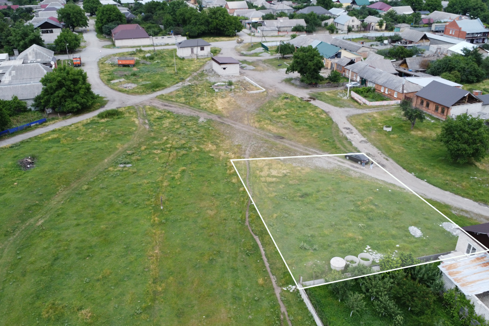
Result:
{"type": "Polygon", "coordinates": [[[479,294],[489,290],[489,256],[469,256],[455,262],[443,262],[438,268],[465,295],[479,294]]]}

